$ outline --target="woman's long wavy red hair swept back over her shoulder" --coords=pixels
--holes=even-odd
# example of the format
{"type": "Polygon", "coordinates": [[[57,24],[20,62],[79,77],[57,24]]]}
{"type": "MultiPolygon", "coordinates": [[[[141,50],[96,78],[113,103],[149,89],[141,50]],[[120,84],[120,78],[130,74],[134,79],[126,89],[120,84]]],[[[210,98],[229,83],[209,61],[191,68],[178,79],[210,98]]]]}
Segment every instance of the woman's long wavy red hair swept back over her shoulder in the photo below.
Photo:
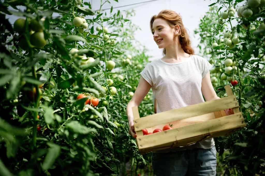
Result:
{"type": "MultiPolygon", "coordinates": [[[[158,15],[154,15],[150,20],[150,29],[152,32],[153,22],[157,18],[162,18],[167,21],[170,27],[175,27],[175,25],[179,25],[179,43],[184,50],[185,53],[194,54],[194,50],[191,47],[191,40],[189,39],[189,35],[187,30],[185,29],[181,16],[174,12],[173,10],[162,10],[158,13],[158,15]]],[[[163,55],[166,54],[166,48],[163,49],[163,55]]]]}

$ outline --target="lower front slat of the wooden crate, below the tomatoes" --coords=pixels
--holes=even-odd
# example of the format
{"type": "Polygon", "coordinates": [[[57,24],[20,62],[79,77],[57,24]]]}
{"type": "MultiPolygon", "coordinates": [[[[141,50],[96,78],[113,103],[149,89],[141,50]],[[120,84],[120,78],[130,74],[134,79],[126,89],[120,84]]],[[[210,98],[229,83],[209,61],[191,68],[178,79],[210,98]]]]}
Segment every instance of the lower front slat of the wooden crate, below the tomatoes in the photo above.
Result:
{"type": "Polygon", "coordinates": [[[240,126],[246,126],[243,115],[241,113],[232,114],[206,122],[194,123],[187,126],[139,137],[138,149],[180,141],[194,136],[200,136],[205,133],[227,130],[240,126]]]}

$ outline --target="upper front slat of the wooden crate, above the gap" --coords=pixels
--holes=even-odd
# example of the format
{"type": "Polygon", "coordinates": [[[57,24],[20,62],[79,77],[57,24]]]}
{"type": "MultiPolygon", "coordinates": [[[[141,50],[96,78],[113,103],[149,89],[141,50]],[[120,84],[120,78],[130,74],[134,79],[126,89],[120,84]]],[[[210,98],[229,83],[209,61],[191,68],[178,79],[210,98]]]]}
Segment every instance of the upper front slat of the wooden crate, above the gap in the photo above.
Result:
{"type": "Polygon", "coordinates": [[[233,95],[218,100],[206,101],[204,103],[198,103],[145,116],[137,119],[137,121],[134,120],[134,126],[136,131],[140,131],[144,128],[153,127],[159,124],[178,121],[189,117],[196,117],[198,115],[235,107],[238,107],[238,102],[236,100],[236,96],[233,95]]]}

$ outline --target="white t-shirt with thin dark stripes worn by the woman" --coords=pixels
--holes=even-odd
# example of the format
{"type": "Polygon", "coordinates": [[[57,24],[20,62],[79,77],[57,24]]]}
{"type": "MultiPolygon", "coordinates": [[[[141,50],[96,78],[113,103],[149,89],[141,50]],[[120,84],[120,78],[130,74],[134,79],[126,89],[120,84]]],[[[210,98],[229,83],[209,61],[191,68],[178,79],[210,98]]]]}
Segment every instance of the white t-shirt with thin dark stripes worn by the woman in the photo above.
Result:
{"type": "MultiPolygon", "coordinates": [[[[187,60],[179,63],[167,63],[158,59],[147,64],[141,75],[152,86],[157,100],[157,113],[204,102],[201,83],[211,67],[206,59],[198,55],[190,55],[187,60]]],[[[214,145],[213,138],[209,138],[188,146],[153,152],[211,149],[214,145]]]]}

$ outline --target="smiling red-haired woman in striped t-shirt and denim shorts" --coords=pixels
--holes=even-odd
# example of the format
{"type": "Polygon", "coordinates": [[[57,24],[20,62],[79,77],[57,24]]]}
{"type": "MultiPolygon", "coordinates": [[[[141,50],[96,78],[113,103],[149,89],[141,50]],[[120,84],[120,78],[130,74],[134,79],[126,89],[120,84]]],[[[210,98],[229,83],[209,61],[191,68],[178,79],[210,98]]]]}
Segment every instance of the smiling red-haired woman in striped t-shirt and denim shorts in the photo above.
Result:
{"type": "MultiPolygon", "coordinates": [[[[202,103],[204,98],[206,101],[219,99],[211,84],[209,70],[212,65],[194,55],[181,16],[174,11],[163,10],[152,16],[150,28],[158,48],[163,48],[164,57],[144,68],[134,96],[127,105],[129,134],[133,137],[136,133],[132,107],[139,106],[150,88],[157,101],[157,113],[202,103]]],[[[233,114],[232,109],[225,112],[233,114]]],[[[216,162],[213,138],[152,152],[152,166],[157,176],[214,176],[216,162]]]]}

